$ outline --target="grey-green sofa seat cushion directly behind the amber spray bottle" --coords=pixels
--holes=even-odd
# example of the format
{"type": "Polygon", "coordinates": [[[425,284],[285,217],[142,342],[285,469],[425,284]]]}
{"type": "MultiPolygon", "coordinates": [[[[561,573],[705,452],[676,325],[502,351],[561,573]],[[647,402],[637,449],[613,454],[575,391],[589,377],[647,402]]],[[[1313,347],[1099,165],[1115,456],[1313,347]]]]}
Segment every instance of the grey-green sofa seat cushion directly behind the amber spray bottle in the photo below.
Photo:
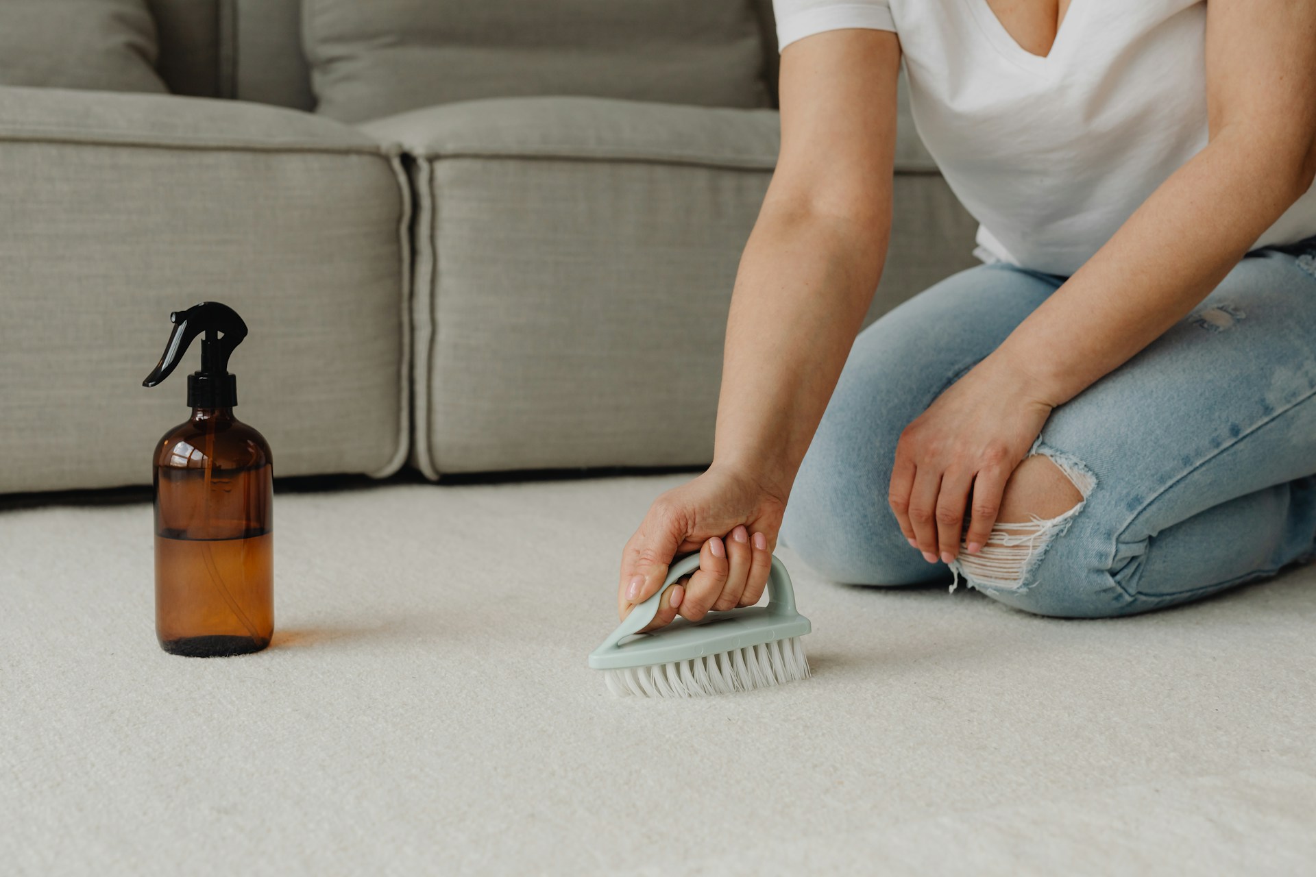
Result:
{"type": "Polygon", "coordinates": [[[276,475],[396,471],[404,183],[395,153],[308,113],[0,88],[0,493],[149,484],[199,354],[142,379],[170,312],[212,298],[250,326],[237,414],[276,475]]]}

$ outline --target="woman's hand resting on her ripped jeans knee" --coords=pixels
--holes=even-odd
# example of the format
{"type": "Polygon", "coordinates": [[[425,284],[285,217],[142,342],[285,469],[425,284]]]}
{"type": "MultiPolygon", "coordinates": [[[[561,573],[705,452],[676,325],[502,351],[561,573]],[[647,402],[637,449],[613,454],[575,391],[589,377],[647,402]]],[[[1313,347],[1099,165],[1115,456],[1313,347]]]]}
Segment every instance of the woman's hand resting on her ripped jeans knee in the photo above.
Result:
{"type": "Polygon", "coordinates": [[[987,544],[1005,481],[1042,431],[1053,405],[1025,375],[988,356],[900,434],[888,501],[924,560],[959,555],[973,494],[969,554],[987,544]]]}

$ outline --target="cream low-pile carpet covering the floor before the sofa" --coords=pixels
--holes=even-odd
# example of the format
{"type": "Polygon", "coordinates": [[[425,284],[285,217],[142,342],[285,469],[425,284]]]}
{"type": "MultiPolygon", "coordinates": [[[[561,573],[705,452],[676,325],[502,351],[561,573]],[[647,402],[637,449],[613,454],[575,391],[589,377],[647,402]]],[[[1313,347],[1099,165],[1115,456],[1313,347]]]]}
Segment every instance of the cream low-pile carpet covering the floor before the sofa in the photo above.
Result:
{"type": "Polygon", "coordinates": [[[20,874],[1311,873],[1316,571],[1124,621],[794,561],[816,676],[613,698],[676,477],[283,494],[279,632],[164,655],[145,504],[0,513],[20,874]]]}

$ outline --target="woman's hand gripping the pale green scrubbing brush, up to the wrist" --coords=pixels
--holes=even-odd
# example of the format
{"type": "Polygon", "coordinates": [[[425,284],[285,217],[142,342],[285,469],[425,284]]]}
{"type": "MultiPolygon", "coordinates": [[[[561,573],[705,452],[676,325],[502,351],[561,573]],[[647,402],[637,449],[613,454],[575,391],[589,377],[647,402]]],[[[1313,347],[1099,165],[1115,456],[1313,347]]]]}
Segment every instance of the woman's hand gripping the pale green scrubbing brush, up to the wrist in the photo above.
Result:
{"type": "Polygon", "coordinates": [[[679,554],[699,551],[699,569],[667,589],[645,630],[671,623],[678,611],[699,621],[709,610],[753,606],[767,585],[786,497],[716,464],[694,481],[658,497],[621,552],[617,613],[625,618],[667,577],[679,554]]]}

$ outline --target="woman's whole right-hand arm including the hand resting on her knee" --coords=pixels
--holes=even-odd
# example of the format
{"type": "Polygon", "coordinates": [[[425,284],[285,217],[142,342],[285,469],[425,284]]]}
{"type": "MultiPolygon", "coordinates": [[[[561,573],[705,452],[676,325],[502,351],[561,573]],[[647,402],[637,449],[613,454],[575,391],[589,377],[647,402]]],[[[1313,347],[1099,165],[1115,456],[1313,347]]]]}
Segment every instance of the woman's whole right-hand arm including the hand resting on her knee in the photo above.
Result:
{"type": "Polygon", "coordinates": [[[1208,146],[911,423],[891,506],[923,551],[958,555],[970,485],[965,540],[970,552],[984,544],[1021,442],[1050,409],[1183,318],[1312,185],[1316,3],[1211,0],[1207,100],[1208,146]]]}

